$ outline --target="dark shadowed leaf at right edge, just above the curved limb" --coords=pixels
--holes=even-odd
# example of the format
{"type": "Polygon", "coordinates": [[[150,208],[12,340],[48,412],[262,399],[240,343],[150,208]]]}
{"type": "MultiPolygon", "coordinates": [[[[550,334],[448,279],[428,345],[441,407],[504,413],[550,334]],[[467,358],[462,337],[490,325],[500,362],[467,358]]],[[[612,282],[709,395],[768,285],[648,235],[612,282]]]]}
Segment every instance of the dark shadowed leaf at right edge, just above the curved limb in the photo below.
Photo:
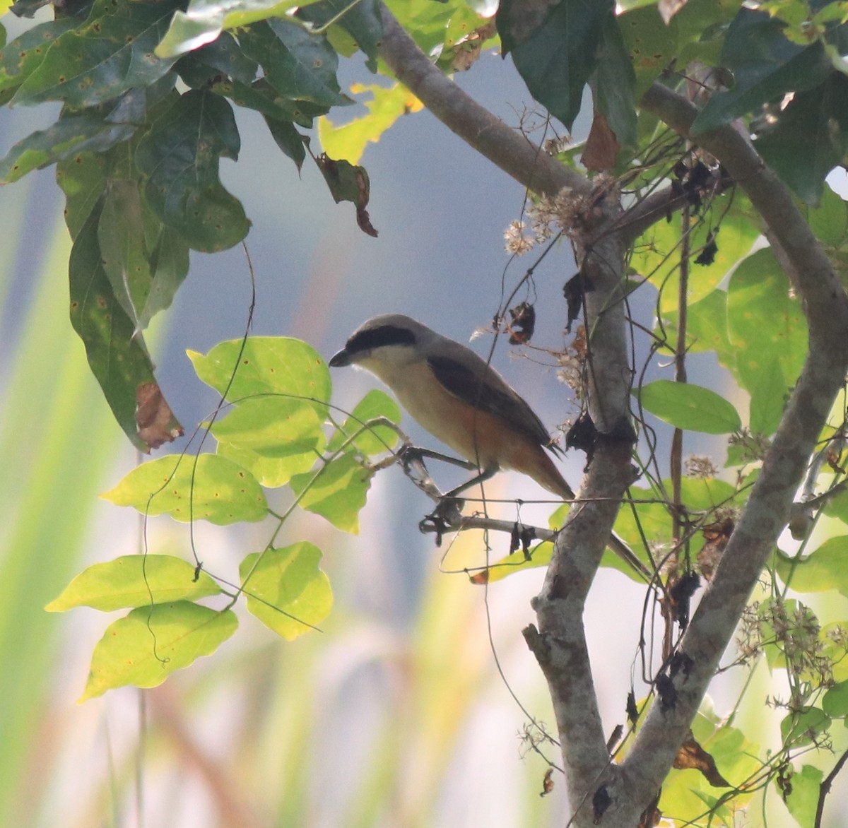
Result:
{"type": "Polygon", "coordinates": [[[756,148],[802,201],[817,207],[825,178],[848,153],[848,78],[834,72],[796,94],[756,148]]]}

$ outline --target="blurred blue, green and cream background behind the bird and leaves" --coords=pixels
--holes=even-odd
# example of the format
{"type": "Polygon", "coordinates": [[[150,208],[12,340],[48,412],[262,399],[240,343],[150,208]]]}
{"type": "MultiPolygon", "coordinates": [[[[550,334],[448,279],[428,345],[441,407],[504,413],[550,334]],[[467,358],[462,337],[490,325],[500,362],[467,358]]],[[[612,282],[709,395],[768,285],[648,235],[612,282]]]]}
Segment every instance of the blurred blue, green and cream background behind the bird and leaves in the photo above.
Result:
{"type": "MultiPolygon", "coordinates": [[[[370,81],[360,58],[345,63],[342,80],[370,81]]],[[[511,63],[494,55],[457,81],[510,125],[532,106],[511,63]]],[[[4,109],[0,153],[54,114],[4,109]]],[[[247,244],[255,334],[303,337],[329,358],[363,320],[395,311],[468,342],[532,260],[510,264],[503,247],[505,227],[521,214],[522,187],[427,112],[400,119],[362,160],[377,239],[357,228],[352,205],[332,202],[309,159],[298,175],[258,116],[239,112],[238,119],[241,158],[224,161],[221,175],[254,222],[247,244]]],[[[287,542],[309,537],[325,550],[337,604],[322,634],[282,642],[242,612],[241,628],[218,653],[158,690],[109,692],[75,706],[92,647],[113,619],[86,609],[53,616],[42,607],[84,565],[137,552],[140,523],[130,510],[95,499],[137,458],[70,330],[61,208],[53,169],[0,189],[0,691],[8,710],[0,725],[7,754],[0,823],[559,824],[562,785],[538,797],[546,766],[525,756],[517,734],[526,718],[489,644],[490,620],[512,690],[552,727],[544,683],[520,635],[533,620],[529,602],[542,573],[486,592],[461,571],[440,572],[483,564],[482,538],[433,547],[417,531],[429,503],[397,469],[377,477],[359,536],[321,519],[287,527],[287,542]]],[[[561,246],[536,271],[536,344],[561,347],[561,288],[574,270],[561,246]]],[[[241,248],[193,254],[175,306],[153,325],[159,382],[189,434],[215,396],[194,376],[185,350],[206,352],[243,336],[249,300],[241,248]]],[[[640,301],[650,324],[652,299],[640,301]]],[[[489,342],[472,347],[486,353],[489,342]]],[[[552,369],[510,359],[505,343],[494,365],[551,429],[574,414],[552,369]]],[[[348,407],[377,385],[352,370],[333,381],[334,402],[348,407]]],[[[404,427],[432,444],[415,424],[404,420],[404,427]]],[[[567,459],[572,483],[582,464],[582,455],[567,459]]],[[[487,491],[544,497],[511,475],[487,491]]],[[[522,517],[544,523],[548,511],[527,506],[522,517]]],[[[503,514],[512,519],[515,508],[503,514]]],[[[209,569],[232,575],[268,534],[267,525],[200,524],[195,542],[209,569]]],[[[148,541],[154,552],[189,554],[187,527],[170,520],[151,521],[148,541]]],[[[505,554],[504,538],[492,543],[495,558],[505,554]]],[[[643,597],[622,575],[601,573],[587,609],[590,646],[604,653],[596,680],[609,731],[623,721],[638,671],[631,659],[643,597]]]]}

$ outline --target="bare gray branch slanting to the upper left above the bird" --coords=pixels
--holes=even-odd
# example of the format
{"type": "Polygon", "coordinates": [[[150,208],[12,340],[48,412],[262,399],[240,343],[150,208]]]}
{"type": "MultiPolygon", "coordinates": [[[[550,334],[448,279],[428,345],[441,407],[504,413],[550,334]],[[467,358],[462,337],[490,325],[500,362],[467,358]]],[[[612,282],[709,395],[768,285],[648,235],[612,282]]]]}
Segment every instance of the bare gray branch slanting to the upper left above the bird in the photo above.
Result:
{"type": "Polygon", "coordinates": [[[534,147],[445,77],[384,5],[382,25],[382,58],[397,79],[449,130],[532,192],[554,196],[563,187],[589,192],[591,186],[583,175],[534,147]]]}

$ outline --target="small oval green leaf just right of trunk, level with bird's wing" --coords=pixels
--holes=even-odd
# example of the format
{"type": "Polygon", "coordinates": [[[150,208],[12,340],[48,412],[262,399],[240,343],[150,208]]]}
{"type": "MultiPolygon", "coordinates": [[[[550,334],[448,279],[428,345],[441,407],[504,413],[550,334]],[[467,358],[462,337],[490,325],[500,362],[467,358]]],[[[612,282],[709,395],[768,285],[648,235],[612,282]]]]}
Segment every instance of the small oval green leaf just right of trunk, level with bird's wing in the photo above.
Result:
{"type": "Polygon", "coordinates": [[[742,427],[733,404],[709,388],[657,380],[642,386],[639,401],[645,410],[684,431],[729,434],[742,427]]]}

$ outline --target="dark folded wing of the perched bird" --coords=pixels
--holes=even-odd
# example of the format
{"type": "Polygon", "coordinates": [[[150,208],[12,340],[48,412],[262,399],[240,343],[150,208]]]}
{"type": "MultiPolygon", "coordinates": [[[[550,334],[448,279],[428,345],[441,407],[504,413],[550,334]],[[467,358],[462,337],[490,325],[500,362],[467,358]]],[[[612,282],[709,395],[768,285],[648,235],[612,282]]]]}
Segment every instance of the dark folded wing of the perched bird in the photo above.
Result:
{"type": "Polygon", "coordinates": [[[540,446],[554,448],[542,420],[494,370],[484,364],[485,374],[449,357],[427,357],[433,375],[444,388],[465,403],[505,420],[519,434],[540,446]]]}

